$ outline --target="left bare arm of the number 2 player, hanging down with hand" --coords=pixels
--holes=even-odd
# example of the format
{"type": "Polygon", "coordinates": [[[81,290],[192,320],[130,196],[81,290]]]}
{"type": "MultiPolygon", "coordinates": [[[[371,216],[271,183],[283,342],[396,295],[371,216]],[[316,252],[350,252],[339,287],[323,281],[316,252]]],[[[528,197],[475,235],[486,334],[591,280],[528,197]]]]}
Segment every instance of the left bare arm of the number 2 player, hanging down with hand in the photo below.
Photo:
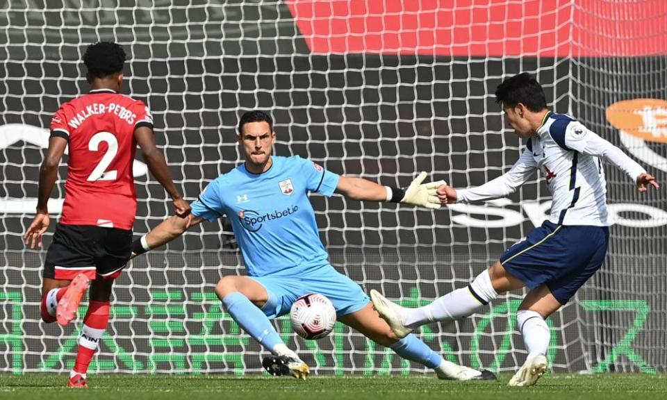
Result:
{"type": "Polygon", "coordinates": [[[66,148],[67,140],[65,138],[56,136],[49,139],[49,149],[47,149],[47,155],[40,167],[37,215],[35,215],[35,219],[23,235],[24,243],[29,245],[31,249],[34,249],[35,246],[42,247],[42,235],[49,228],[49,197],[53,191],[53,185],[56,185],[58,165],[66,148]]]}

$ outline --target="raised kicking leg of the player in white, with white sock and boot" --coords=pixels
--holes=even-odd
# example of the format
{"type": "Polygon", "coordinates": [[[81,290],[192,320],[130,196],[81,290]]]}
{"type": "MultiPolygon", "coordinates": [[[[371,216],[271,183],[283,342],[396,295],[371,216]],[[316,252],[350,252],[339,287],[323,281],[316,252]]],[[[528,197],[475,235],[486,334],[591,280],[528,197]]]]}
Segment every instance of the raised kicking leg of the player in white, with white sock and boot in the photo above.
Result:
{"type": "Polygon", "coordinates": [[[380,316],[388,322],[398,338],[404,338],[418,326],[438,321],[452,321],[472,315],[498,294],[516,290],[525,284],[496,262],[477,275],[466,288],[439,297],[427,306],[404,308],[371,290],[370,297],[380,316]]]}

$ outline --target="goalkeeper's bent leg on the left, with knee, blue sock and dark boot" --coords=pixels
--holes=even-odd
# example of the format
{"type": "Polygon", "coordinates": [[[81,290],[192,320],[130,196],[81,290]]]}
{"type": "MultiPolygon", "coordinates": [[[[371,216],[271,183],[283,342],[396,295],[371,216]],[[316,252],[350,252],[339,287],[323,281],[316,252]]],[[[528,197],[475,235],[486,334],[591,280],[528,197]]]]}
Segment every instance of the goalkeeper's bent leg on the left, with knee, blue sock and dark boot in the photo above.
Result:
{"type": "Polygon", "coordinates": [[[261,283],[247,276],[224,276],[215,286],[215,293],[234,321],[276,356],[264,360],[263,365],[268,372],[306,378],[308,365],[287,347],[269,317],[261,310],[269,299],[269,294],[261,283]]]}

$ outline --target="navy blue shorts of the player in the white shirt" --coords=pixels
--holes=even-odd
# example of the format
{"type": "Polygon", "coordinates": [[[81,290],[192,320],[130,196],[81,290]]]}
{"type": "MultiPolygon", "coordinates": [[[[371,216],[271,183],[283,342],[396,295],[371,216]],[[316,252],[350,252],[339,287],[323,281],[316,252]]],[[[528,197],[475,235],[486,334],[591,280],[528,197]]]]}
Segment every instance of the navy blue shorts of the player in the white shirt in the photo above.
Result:
{"type": "Polygon", "coordinates": [[[500,257],[502,266],[531,290],[547,285],[561,304],[604,263],[607,226],[564,226],[545,221],[500,257]]]}

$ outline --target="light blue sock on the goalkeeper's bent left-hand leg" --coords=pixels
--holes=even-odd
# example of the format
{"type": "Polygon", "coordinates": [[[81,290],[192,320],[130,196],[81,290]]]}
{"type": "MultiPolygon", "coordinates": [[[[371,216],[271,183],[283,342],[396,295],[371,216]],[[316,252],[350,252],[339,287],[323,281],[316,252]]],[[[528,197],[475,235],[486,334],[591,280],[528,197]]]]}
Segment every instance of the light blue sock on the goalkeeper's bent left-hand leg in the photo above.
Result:
{"type": "Polygon", "coordinates": [[[222,303],[234,321],[268,351],[273,351],[277,344],[285,345],[262,310],[242,293],[227,294],[222,303]]]}

